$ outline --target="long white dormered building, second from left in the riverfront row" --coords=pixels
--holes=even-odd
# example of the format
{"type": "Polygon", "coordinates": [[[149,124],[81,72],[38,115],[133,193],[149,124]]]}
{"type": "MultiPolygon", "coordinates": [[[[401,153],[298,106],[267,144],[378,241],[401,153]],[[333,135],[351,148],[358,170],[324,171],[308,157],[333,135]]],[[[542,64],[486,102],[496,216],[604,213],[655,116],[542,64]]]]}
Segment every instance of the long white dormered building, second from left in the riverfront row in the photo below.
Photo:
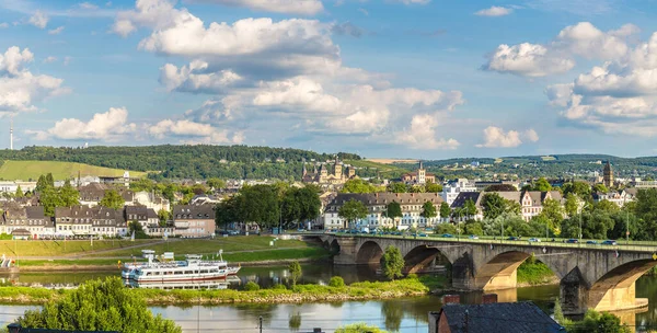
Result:
{"type": "Polygon", "coordinates": [[[126,236],[127,222],[123,209],[103,206],[73,206],[55,208],[55,233],[58,236],[126,236]]]}

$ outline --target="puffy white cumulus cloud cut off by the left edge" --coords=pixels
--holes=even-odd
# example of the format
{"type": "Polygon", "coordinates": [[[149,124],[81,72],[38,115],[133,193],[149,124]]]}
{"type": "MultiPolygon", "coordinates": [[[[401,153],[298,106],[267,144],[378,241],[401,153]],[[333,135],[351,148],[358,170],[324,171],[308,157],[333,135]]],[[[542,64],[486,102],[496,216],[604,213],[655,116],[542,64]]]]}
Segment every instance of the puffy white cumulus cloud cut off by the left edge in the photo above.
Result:
{"type": "Polygon", "coordinates": [[[30,49],[18,46],[0,54],[0,113],[36,111],[34,103],[69,92],[64,80],[30,72],[24,66],[33,60],[30,49]]]}

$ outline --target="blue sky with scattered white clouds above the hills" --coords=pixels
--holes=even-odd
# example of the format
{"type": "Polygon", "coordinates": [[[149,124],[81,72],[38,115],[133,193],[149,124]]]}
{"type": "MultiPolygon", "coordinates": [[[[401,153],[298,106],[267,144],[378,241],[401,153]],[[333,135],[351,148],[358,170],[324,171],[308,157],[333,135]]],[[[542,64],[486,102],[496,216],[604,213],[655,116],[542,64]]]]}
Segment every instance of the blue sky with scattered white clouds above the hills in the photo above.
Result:
{"type": "Polygon", "coordinates": [[[0,0],[0,148],[657,154],[655,0],[0,0]],[[654,34],[655,33],[655,34],[654,34]]]}

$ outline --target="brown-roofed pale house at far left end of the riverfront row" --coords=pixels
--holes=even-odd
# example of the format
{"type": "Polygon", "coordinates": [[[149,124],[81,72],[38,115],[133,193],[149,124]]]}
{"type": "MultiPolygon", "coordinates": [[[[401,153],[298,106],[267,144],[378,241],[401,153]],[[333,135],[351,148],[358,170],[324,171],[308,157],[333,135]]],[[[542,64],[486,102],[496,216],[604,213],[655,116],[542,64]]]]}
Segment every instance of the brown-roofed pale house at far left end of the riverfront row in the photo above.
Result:
{"type": "Polygon", "coordinates": [[[2,213],[0,233],[13,234],[19,239],[48,238],[55,233],[53,221],[44,216],[43,206],[11,206],[2,213]]]}

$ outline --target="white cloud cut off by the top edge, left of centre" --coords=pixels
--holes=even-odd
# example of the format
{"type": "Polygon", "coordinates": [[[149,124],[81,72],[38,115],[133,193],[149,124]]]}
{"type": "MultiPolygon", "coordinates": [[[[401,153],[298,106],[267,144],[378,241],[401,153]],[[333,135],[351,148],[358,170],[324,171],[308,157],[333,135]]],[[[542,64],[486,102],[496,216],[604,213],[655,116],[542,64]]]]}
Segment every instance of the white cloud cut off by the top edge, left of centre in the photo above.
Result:
{"type": "Polygon", "coordinates": [[[300,15],[314,15],[324,10],[320,0],[187,0],[186,2],[217,3],[245,7],[255,11],[300,15]]]}

